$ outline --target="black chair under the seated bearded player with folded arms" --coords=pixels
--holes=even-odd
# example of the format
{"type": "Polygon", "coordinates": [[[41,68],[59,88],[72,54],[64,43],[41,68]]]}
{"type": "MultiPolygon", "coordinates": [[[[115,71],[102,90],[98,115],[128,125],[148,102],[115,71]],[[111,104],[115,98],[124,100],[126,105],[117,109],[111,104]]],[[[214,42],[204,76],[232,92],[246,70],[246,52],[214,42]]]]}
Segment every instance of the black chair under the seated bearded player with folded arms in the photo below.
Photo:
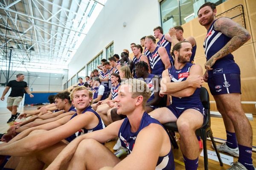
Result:
{"type": "MultiPolygon", "coordinates": [[[[211,130],[211,117],[210,117],[210,102],[209,102],[209,94],[206,88],[201,87],[200,90],[200,99],[201,102],[206,110],[206,119],[204,121],[204,124],[202,125],[202,127],[198,130],[195,131],[195,134],[200,136],[201,139],[203,140],[203,148],[204,148],[204,170],[208,170],[208,156],[207,156],[207,137],[211,138],[213,147],[215,149],[215,152],[217,154],[218,160],[220,162],[221,167],[223,167],[223,163],[220,157],[220,154],[216,148],[216,144],[213,140],[213,136],[212,136],[212,130],[211,130]]],[[[178,145],[177,142],[175,140],[175,137],[172,134],[172,130],[175,132],[178,132],[178,128],[177,128],[177,124],[176,122],[169,122],[169,123],[165,123],[163,124],[163,126],[166,128],[166,130],[169,132],[169,136],[171,137],[171,142],[174,148],[178,149],[178,145]]]]}

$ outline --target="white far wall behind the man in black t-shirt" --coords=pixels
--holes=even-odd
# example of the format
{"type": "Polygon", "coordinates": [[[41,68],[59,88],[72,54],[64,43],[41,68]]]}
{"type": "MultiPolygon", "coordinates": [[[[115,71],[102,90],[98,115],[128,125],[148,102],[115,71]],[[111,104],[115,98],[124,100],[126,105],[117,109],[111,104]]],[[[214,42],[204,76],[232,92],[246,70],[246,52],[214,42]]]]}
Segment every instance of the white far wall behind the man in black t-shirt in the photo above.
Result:
{"type": "MultiPolygon", "coordinates": [[[[40,91],[40,92],[59,92],[63,89],[62,77],[63,74],[55,73],[40,73],[40,72],[23,72],[23,71],[10,71],[9,81],[17,79],[16,74],[24,74],[24,81],[28,83],[30,91],[40,91]],[[40,78],[38,78],[40,77],[40,78]]],[[[6,83],[5,76],[6,71],[1,72],[0,83],[6,83]],[[4,73],[4,74],[3,74],[4,73]]],[[[66,76],[67,77],[67,73],[66,76]]],[[[66,78],[67,79],[67,78],[66,78]]],[[[67,81],[67,80],[66,80],[67,81]]],[[[1,86],[4,87],[4,86],[1,86]]],[[[0,93],[2,95],[2,93],[0,93]]],[[[6,95],[7,96],[7,95],[6,95]]]]}

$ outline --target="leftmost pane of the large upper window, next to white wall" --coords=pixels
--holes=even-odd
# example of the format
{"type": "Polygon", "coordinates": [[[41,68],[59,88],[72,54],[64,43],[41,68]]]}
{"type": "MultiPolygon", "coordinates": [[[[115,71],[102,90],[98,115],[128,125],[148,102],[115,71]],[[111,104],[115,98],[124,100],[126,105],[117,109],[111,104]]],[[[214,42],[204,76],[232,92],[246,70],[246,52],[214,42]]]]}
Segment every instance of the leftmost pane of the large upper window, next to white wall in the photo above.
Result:
{"type": "Polygon", "coordinates": [[[179,6],[177,0],[163,0],[160,3],[163,34],[169,29],[180,25],[179,6]]]}

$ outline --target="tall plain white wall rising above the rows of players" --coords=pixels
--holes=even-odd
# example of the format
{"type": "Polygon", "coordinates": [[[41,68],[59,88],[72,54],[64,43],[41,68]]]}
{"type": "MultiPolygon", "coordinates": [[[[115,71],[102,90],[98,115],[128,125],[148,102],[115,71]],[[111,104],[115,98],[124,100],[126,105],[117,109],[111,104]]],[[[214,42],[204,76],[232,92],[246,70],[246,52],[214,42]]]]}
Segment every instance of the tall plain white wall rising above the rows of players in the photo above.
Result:
{"type": "Polygon", "coordinates": [[[130,44],[140,44],[140,38],[154,35],[153,28],[160,25],[157,0],[108,0],[93,26],[71,60],[68,79],[113,41],[114,54],[124,48],[131,51],[130,44]],[[127,26],[123,27],[126,22],[127,26]]]}

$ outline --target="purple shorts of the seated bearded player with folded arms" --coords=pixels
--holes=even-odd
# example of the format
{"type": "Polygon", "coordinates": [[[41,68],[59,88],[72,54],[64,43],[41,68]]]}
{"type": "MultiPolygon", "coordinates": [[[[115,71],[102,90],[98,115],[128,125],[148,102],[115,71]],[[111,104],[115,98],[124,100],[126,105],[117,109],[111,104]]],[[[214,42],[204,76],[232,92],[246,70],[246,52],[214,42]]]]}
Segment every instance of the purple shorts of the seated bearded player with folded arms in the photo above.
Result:
{"type": "Polygon", "coordinates": [[[202,105],[199,105],[199,106],[189,106],[189,107],[186,107],[186,108],[176,108],[174,105],[169,105],[169,106],[166,106],[166,108],[168,108],[176,117],[177,119],[180,117],[180,115],[188,110],[188,109],[195,109],[197,111],[199,111],[203,117],[204,117],[204,120],[205,120],[205,117],[206,117],[206,110],[205,108],[202,106],[202,105]]]}

